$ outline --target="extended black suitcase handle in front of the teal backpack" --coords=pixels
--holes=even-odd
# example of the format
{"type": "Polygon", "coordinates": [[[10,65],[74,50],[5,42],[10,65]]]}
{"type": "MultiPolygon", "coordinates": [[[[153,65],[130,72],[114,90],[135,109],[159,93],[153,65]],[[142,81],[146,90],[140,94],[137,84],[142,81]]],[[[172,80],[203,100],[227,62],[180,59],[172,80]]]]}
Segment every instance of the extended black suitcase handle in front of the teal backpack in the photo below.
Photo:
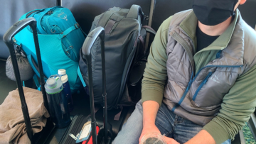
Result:
{"type": "Polygon", "coordinates": [[[26,124],[26,131],[28,133],[28,138],[31,140],[31,143],[34,143],[35,140],[33,140],[33,131],[32,131],[31,121],[30,121],[30,117],[29,117],[29,113],[28,113],[28,106],[26,105],[26,100],[25,100],[25,96],[23,93],[21,77],[20,77],[20,73],[18,71],[18,64],[17,64],[16,54],[15,54],[15,50],[14,50],[14,43],[12,41],[12,38],[14,37],[14,35],[16,35],[18,32],[20,32],[23,28],[26,28],[26,26],[28,26],[28,25],[31,26],[31,29],[33,31],[33,39],[34,39],[34,43],[35,43],[35,47],[36,47],[36,56],[37,56],[37,60],[38,60],[38,67],[39,67],[40,78],[41,78],[41,91],[43,93],[43,102],[44,102],[46,109],[48,110],[48,102],[47,102],[47,98],[46,98],[46,91],[44,88],[45,81],[43,79],[43,67],[42,67],[41,54],[40,54],[39,43],[38,43],[38,35],[37,35],[37,31],[36,31],[36,19],[35,18],[26,18],[21,21],[17,21],[16,23],[14,23],[13,26],[11,26],[11,28],[8,29],[8,31],[6,31],[6,33],[4,34],[3,40],[4,40],[4,43],[6,43],[7,47],[9,48],[9,51],[10,51],[11,62],[13,63],[13,67],[14,67],[14,74],[16,77],[18,94],[21,99],[21,109],[22,109],[24,121],[26,124]]]}

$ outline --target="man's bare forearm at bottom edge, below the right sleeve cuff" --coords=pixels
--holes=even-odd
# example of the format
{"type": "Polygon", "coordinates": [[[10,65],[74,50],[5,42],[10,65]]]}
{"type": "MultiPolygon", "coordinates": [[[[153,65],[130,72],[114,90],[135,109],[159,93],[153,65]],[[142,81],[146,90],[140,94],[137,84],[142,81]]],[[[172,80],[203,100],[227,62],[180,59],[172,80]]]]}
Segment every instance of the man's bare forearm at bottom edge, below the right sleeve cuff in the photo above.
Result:
{"type": "Polygon", "coordinates": [[[200,131],[185,144],[215,144],[215,140],[206,130],[200,131]]]}

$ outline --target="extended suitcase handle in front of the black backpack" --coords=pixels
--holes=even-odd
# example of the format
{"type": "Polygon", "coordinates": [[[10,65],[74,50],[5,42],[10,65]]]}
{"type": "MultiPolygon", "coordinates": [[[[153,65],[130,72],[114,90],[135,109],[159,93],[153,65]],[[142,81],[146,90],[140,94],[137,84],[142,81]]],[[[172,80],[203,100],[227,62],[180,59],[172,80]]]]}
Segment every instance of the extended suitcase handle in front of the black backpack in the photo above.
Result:
{"type": "Polygon", "coordinates": [[[95,120],[95,106],[93,96],[93,84],[92,84],[92,45],[95,43],[97,38],[101,40],[101,56],[102,56],[102,96],[104,101],[104,130],[105,130],[105,143],[108,141],[107,137],[107,93],[106,93],[106,74],[105,74],[105,30],[102,27],[95,28],[91,31],[85,42],[82,45],[82,58],[86,60],[89,75],[89,89],[90,89],[90,106],[92,116],[92,143],[97,144],[97,133],[96,133],[96,120],[95,120]]]}

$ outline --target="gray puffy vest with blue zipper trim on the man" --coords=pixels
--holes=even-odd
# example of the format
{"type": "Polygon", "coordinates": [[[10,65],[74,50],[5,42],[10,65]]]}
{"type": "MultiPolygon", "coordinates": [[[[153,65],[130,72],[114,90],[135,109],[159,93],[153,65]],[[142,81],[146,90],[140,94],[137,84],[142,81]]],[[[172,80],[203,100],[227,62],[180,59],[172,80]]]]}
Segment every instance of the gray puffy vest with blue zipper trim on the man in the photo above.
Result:
{"type": "Polygon", "coordinates": [[[193,41],[179,24],[192,10],[176,13],[169,27],[164,104],[178,116],[205,126],[217,116],[236,79],[256,63],[256,33],[238,16],[227,48],[194,74],[193,41]]]}

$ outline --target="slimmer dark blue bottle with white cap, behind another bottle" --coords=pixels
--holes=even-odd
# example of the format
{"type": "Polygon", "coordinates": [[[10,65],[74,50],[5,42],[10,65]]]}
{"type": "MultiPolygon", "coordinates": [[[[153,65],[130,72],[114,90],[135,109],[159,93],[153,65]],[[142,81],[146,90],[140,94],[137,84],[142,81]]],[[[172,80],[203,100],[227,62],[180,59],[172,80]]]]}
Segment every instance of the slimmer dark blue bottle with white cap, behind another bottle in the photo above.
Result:
{"type": "Polygon", "coordinates": [[[68,75],[64,69],[58,70],[58,74],[61,75],[61,81],[63,82],[63,93],[68,99],[68,111],[73,111],[74,104],[70,90],[70,84],[68,83],[68,75]]]}

